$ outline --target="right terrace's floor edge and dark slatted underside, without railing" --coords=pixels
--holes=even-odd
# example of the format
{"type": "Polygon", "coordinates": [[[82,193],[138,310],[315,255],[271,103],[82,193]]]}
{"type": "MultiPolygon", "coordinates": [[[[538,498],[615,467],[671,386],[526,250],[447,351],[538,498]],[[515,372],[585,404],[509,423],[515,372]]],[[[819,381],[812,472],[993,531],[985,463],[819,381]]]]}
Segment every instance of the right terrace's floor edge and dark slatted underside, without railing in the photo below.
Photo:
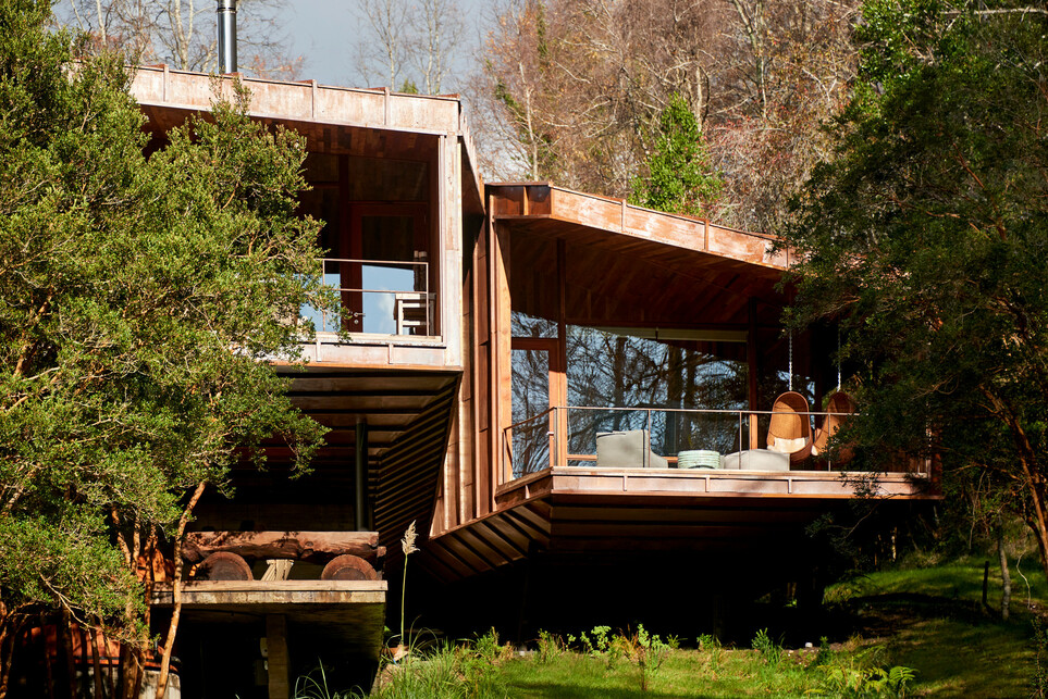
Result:
{"type": "MultiPolygon", "coordinates": [[[[454,581],[535,552],[568,561],[798,546],[819,515],[854,500],[861,474],[555,467],[497,489],[494,510],[428,542],[420,562],[454,581]],[[852,478],[849,482],[848,478],[852,478]]],[[[935,500],[923,476],[878,474],[886,508],[935,500]]]]}

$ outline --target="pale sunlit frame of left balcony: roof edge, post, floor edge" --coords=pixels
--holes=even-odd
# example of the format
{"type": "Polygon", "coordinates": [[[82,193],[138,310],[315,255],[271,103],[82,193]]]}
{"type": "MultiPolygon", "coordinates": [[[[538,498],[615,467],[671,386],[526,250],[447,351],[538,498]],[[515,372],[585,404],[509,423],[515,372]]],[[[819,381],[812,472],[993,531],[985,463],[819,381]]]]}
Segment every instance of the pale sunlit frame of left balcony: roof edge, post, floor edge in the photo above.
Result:
{"type": "MultiPolygon", "coordinates": [[[[370,162],[368,172],[372,173],[380,165],[392,167],[385,177],[374,175],[369,180],[378,183],[378,194],[354,194],[348,175],[343,174],[336,180],[309,182],[315,189],[337,190],[340,240],[349,236],[347,205],[380,199],[400,207],[421,202],[426,209],[428,260],[430,269],[436,271],[433,285],[428,287],[435,298],[431,336],[358,333],[349,342],[320,336],[316,342],[304,346],[305,357],[312,363],[341,367],[461,371],[461,324],[468,314],[463,305],[465,227],[467,222],[473,228],[482,224],[484,185],[476,167],[469,125],[459,98],[329,87],[316,80],[242,77],[241,82],[250,92],[249,115],[297,132],[306,139],[310,155],[336,158],[346,172],[346,163],[352,159],[356,159],[355,172],[365,167],[361,162],[370,162]],[[399,182],[399,175],[391,163],[412,163],[416,168],[411,172],[426,173],[424,180],[416,183],[421,187],[421,199],[392,186],[399,182]]],[[[209,111],[215,97],[231,99],[233,79],[175,71],[167,65],[138,66],[131,92],[147,117],[145,129],[157,143],[162,143],[168,132],[189,115],[209,111]]],[[[316,215],[315,211],[310,213],[316,215]]],[[[330,216],[324,217],[334,224],[330,216]]]]}

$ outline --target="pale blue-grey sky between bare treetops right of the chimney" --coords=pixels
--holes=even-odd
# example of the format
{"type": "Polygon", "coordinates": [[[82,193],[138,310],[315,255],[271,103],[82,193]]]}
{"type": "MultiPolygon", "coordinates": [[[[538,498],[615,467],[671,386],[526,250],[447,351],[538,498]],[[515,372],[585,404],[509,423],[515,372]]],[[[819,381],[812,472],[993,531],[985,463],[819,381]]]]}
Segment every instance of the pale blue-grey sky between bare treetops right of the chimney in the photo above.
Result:
{"type": "MultiPolygon", "coordinates": [[[[357,84],[360,80],[352,64],[354,33],[358,30],[354,14],[357,4],[358,0],[294,0],[283,4],[280,14],[291,37],[293,53],[305,59],[303,79],[311,78],[323,85],[372,87],[357,84]]],[[[484,16],[481,10],[491,2],[458,0],[457,4],[467,22],[472,23],[469,34],[476,41],[484,16]]]]}

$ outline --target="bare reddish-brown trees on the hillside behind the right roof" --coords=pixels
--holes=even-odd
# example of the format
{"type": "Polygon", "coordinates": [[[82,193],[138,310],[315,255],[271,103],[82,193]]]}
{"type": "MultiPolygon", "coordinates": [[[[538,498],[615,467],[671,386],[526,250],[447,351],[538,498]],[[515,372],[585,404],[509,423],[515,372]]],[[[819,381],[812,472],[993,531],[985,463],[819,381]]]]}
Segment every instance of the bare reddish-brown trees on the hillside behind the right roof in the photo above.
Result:
{"type": "Polygon", "coordinates": [[[628,197],[678,95],[724,173],[706,214],[769,229],[829,155],[819,126],[854,76],[856,4],[515,0],[488,39],[474,126],[504,147],[485,174],[628,197]]]}

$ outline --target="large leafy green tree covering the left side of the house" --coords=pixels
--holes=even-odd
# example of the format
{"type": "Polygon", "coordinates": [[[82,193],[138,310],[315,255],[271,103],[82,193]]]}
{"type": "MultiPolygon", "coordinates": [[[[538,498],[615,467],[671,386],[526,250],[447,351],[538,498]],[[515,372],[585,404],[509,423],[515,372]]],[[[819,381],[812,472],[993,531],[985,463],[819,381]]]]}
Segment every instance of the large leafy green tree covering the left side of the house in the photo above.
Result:
{"type": "MultiPolygon", "coordinates": [[[[304,466],[321,437],[267,362],[297,357],[288,319],[322,302],[317,224],[295,214],[301,140],[246,96],[147,157],[122,62],[49,17],[0,1],[0,697],[40,614],[126,640],[130,696],[139,565],[173,559],[177,600],[204,488],[263,437],[304,466]]],[[[176,627],[177,606],[164,667],[176,627]]]]}

